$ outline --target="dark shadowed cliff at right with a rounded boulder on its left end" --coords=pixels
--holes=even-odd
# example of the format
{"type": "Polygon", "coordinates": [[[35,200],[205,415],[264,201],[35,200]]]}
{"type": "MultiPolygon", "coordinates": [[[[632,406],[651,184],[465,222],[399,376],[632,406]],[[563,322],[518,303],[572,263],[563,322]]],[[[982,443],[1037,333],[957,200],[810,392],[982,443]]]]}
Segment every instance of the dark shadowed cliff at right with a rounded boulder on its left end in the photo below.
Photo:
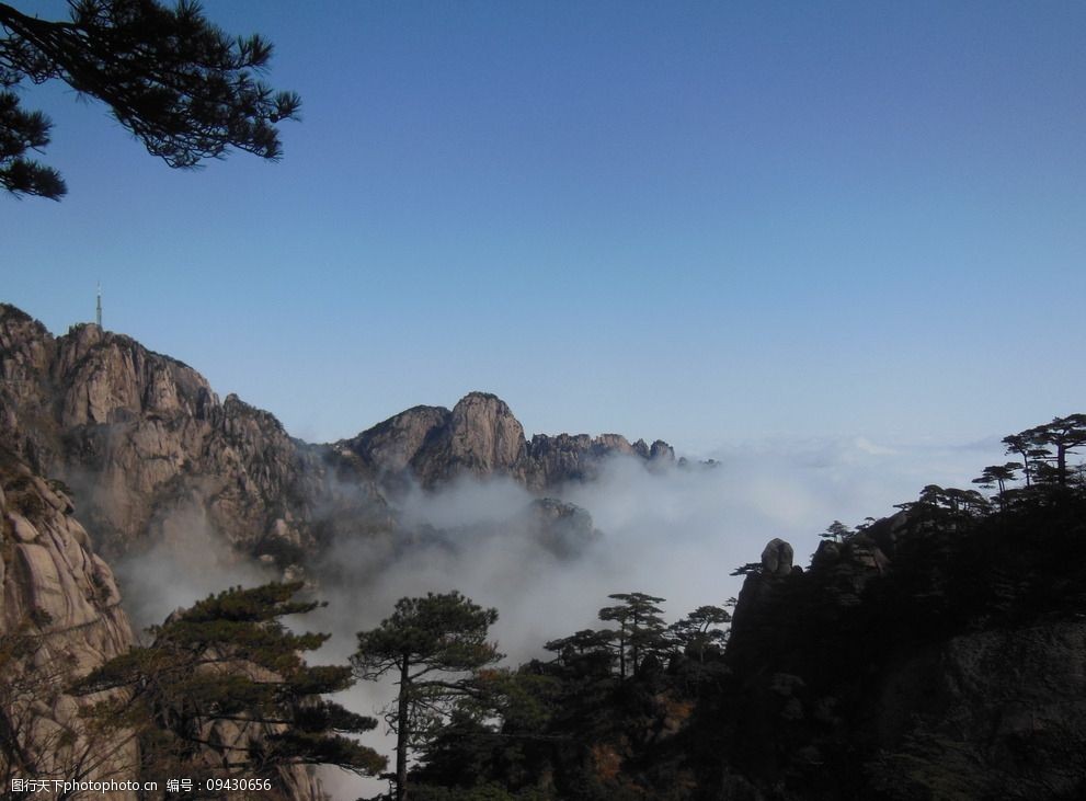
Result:
{"type": "Polygon", "coordinates": [[[805,571],[775,540],[735,610],[730,767],[778,799],[1086,797],[1084,519],[1066,491],[916,505],[805,571]]]}

